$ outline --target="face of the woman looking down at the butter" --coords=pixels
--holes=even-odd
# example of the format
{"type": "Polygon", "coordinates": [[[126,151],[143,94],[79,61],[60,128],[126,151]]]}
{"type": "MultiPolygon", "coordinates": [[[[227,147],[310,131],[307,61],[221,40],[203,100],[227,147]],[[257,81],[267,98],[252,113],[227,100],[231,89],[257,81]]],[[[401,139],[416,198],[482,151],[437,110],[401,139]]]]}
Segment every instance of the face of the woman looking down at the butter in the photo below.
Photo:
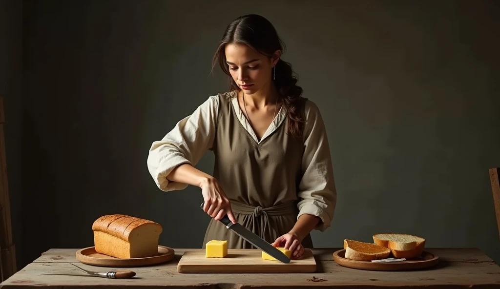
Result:
{"type": "Polygon", "coordinates": [[[245,94],[252,94],[271,83],[279,51],[269,58],[247,45],[230,43],[225,46],[225,57],[234,82],[245,94]]]}

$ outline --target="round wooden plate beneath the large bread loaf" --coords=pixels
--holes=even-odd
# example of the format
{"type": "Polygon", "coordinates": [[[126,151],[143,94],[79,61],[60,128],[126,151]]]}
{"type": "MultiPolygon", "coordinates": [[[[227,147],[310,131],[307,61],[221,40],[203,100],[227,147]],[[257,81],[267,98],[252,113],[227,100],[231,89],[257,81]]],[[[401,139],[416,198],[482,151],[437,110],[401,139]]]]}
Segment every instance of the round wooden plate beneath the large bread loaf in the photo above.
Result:
{"type": "Polygon", "coordinates": [[[95,247],[86,247],[76,251],[76,259],[84,264],[103,267],[140,267],[167,262],[174,257],[175,251],[166,246],[158,246],[158,254],[152,257],[120,259],[95,251],[95,247]]]}

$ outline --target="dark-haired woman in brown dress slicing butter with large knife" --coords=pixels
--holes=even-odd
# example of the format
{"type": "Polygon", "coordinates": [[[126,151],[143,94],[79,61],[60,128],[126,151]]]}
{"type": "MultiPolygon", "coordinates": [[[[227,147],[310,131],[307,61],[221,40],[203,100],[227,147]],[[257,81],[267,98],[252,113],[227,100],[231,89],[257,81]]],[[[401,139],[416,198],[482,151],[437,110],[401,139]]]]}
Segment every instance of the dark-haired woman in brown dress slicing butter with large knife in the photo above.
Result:
{"type": "Polygon", "coordinates": [[[302,88],[272,24],[244,15],[226,28],[213,63],[229,75],[229,92],[208,97],[149,150],[149,172],[161,190],[201,188],[213,217],[204,244],[252,248],[217,221],[224,214],[274,246],[300,257],[323,231],[336,203],[328,140],[318,107],[302,88]],[[215,155],[213,175],[194,167],[215,155]]]}

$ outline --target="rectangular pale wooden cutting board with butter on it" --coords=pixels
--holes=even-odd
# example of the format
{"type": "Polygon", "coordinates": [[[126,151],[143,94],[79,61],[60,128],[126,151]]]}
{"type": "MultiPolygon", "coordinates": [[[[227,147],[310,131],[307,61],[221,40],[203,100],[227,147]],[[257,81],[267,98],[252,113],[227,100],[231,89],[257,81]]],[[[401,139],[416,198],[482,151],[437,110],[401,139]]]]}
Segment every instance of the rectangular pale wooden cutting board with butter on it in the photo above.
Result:
{"type": "Polygon", "coordinates": [[[224,258],[207,258],[204,249],[186,250],[177,264],[179,273],[311,273],[316,271],[312,251],[288,264],[262,259],[260,249],[228,249],[224,258]]]}

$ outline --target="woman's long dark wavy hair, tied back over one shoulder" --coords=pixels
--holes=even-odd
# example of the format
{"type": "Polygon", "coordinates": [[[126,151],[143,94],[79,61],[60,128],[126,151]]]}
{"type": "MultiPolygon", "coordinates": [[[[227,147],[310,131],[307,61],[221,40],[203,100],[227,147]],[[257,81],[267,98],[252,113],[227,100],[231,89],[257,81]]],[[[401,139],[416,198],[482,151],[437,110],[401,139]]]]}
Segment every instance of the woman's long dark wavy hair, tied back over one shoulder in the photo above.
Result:
{"type": "MultiPolygon", "coordinates": [[[[276,50],[284,53],[285,45],[279,38],[274,26],[266,18],[248,14],[234,19],[225,29],[220,40],[212,64],[217,62],[222,71],[229,75],[229,89],[239,89],[234,83],[226,64],[225,45],[228,43],[246,44],[256,51],[271,56],[276,50]]],[[[281,53],[281,54],[282,54],[281,53]]],[[[297,76],[291,68],[291,64],[279,58],[274,66],[274,85],[283,98],[283,106],[288,114],[287,132],[293,136],[301,137],[303,131],[303,98],[301,98],[302,87],[296,85],[297,76]]]]}

